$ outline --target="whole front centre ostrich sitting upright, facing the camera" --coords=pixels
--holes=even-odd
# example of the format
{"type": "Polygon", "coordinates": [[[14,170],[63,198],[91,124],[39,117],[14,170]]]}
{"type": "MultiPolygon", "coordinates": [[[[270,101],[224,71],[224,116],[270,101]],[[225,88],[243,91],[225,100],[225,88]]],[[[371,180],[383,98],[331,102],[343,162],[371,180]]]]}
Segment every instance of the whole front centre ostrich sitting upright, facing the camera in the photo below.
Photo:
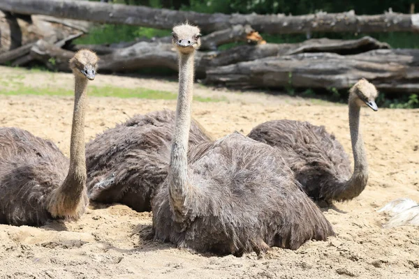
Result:
{"type": "Polygon", "coordinates": [[[233,133],[188,151],[193,57],[200,30],[173,28],[179,95],[168,177],[152,200],[154,239],[179,248],[240,256],[270,246],[299,248],[334,235],[279,151],[233,133]]]}

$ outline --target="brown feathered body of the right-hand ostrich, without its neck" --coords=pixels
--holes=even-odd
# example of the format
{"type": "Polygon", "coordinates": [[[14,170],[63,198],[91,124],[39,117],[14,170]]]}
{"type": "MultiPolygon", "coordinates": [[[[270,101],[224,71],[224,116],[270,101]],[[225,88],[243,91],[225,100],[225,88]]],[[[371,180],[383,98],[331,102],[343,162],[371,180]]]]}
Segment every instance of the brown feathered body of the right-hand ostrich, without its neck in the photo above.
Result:
{"type": "Polygon", "coordinates": [[[248,137],[279,149],[309,197],[328,198],[328,189],[351,177],[348,155],[324,126],[306,121],[268,121],[253,128],[248,137]]]}

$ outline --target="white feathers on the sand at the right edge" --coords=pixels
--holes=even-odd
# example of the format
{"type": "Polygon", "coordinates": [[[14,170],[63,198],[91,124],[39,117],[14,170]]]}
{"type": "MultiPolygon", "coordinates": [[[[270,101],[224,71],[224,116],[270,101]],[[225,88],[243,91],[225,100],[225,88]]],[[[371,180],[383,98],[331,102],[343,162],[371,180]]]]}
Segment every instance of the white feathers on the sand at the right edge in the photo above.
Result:
{"type": "Polygon", "coordinates": [[[385,204],[378,212],[385,212],[391,216],[385,228],[399,226],[419,226],[419,204],[412,199],[395,199],[385,204]]]}

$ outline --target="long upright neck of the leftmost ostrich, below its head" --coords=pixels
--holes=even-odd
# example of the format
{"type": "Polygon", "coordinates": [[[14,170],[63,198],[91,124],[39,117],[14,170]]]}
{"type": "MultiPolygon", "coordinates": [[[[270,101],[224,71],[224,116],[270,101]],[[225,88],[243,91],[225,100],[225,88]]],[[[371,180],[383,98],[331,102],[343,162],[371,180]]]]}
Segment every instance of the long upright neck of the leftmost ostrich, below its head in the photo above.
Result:
{"type": "Polygon", "coordinates": [[[78,196],[86,181],[86,159],[84,154],[84,112],[86,107],[87,79],[75,76],[73,124],[71,126],[70,167],[62,187],[78,196]]]}

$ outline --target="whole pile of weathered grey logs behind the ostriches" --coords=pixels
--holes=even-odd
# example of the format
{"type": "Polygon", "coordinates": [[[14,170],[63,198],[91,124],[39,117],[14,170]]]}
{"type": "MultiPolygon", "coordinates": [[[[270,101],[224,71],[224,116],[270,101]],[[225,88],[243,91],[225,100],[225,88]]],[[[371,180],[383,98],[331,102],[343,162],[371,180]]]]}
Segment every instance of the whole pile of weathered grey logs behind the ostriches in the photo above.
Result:
{"type": "Polygon", "coordinates": [[[419,50],[391,50],[390,45],[369,36],[274,44],[265,42],[258,33],[355,29],[417,32],[419,15],[204,15],[68,0],[1,0],[0,9],[3,65],[22,66],[38,61],[51,70],[68,71],[68,59],[75,51],[87,48],[100,57],[102,73],[129,73],[144,68],[177,70],[171,36],[106,45],[74,45],[72,40],[92,26],[83,20],[169,29],[187,17],[207,32],[196,54],[196,76],[208,84],[347,89],[365,77],[382,91],[419,93],[419,50]],[[233,48],[219,50],[220,45],[237,42],[240,44],[233,48]]]}

